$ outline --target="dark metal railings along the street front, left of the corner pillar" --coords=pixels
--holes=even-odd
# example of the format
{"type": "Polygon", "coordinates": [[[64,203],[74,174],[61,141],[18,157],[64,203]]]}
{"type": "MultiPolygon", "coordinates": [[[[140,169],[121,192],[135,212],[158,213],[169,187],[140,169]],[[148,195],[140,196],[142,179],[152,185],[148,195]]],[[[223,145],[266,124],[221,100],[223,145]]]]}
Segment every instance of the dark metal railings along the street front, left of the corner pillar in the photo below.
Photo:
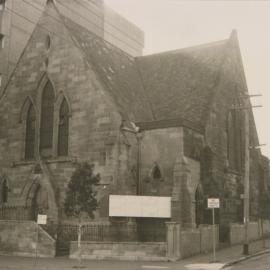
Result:
{"type": "MultiPolygon", "coordinates": [[[[2,206],[0,220],[35,220],[30,207],[2,206]]],[[[78,225],[53,224],[48,222],[41,227],[58,242],[77,241],[78,225]]],[[[87,223],[82,226],[82,241],[116,241],[116,242],[165,242],[167,228],[165,222],[138,222],[127,223],[87,223]]]]}

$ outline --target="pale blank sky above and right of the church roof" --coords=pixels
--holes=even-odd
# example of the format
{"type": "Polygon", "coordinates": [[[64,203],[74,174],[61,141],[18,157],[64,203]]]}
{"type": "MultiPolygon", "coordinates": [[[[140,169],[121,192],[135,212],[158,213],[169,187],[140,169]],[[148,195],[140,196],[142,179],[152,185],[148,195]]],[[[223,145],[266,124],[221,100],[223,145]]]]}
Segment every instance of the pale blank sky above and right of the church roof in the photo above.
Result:
{"type": "Polygon", "coordinates": [[[183,48],[238,32],[263,154],[270,158],[270,0],[105,0],[145,33],[144,54],[183,48]]]}

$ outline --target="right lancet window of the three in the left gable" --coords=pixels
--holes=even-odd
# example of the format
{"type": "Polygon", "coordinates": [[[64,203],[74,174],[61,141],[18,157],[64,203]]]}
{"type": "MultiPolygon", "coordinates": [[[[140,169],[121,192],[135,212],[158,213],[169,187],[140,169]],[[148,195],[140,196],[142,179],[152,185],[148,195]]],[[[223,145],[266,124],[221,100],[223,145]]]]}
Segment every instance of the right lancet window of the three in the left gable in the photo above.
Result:
{"type": "Polygon", "coordinates": [[[66,99],[62,101],[59,112],[58,128],[58,155],[68,155],[68,129],[69,129],[69,109],[66,99]]]}

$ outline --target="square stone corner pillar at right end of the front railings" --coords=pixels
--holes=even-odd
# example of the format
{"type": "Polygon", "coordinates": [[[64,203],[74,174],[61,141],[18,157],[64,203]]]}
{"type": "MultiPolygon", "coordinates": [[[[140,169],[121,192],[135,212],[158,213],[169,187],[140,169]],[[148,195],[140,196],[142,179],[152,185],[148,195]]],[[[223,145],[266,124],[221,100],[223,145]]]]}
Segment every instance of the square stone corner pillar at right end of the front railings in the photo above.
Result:
{"type": "Polygon", "coordinates": [[[180,254],[180,224],[176,222],[166,222],[167,225],[167,257],[178,259],[180,254]]]}

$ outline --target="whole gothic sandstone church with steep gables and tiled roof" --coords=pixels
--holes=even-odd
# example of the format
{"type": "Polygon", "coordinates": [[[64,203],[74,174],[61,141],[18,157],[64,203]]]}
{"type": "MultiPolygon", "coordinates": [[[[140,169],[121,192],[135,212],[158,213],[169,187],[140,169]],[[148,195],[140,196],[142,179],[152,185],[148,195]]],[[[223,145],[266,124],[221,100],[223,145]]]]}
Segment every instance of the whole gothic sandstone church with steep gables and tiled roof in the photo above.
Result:
{"type": "MultiPolygon", "coordinates": [[[[226,230],[243,221],[247,91],[235,31],[134,57],[48,1],[0,97],[1,204],[68,222],[66,187],[76,164],[88,161],[101,175],[95,222],[110,220],[110,194],[169,196],[171,220],[192,228],[211,222],[205,200],[218,197],[226,230]]],[[[257,220],[268,160],[248,110],[257,220]]]]}

